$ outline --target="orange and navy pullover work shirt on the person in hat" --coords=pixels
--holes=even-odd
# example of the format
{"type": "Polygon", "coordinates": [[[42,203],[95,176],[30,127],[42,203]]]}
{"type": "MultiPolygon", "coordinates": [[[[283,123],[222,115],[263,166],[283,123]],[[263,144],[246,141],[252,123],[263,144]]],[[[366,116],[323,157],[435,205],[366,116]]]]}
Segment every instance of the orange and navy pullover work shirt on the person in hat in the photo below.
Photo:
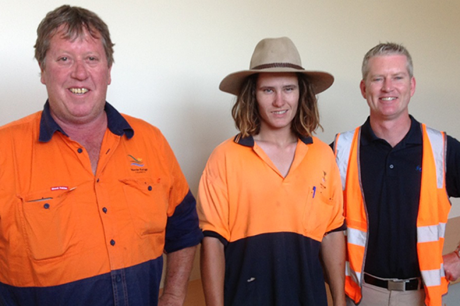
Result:
{"type": "Polygon", "coordinates": [[[319,260],[325,233],[344,229],[342,188],[332,150],[297,142],[283,177],[252,137],[237,135],[209,157],[198,216],[225,248],[226,306],[326,306],[319,260]]]}

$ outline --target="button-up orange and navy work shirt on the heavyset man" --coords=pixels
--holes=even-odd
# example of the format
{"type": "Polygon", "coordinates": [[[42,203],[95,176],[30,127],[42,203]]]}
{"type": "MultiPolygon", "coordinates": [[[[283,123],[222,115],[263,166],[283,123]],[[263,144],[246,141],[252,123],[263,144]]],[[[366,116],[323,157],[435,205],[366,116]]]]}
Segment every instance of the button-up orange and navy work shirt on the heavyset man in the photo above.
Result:
{"type": "Polygon", "coordinates": [[[162,253],[201,241],[161,132],[105,112],[95,175],[48,103],[0,128],[0,305],[156,305],[162,253]]]}

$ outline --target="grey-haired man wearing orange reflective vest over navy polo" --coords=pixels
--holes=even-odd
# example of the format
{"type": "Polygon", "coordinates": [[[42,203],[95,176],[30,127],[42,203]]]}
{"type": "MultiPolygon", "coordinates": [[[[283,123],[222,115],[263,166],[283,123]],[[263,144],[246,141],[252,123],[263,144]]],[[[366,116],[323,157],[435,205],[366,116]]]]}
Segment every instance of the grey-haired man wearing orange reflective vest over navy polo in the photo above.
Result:
{"type": "Polygon", "coordinates": [[[460,143],[409,115],[415,78],[405,47],[373,47],[362,73],[370,116],[333,143],[348,228],[347,305],[441,306],[460,276],[459,248],[442,255],[449,197],[460,196],[460,143]]]}

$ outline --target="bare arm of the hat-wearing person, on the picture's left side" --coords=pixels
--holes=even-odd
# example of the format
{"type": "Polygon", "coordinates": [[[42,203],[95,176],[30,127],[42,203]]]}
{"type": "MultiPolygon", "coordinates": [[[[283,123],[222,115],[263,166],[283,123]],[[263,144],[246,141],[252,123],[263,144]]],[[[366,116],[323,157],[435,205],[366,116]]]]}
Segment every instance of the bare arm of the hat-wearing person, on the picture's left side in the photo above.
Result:
{"type": "Polygon", "coordinates": [[[200,253],[201,281],[207,306],[224,305],[224,245],[214,237],[204,237],[200,253]]]}

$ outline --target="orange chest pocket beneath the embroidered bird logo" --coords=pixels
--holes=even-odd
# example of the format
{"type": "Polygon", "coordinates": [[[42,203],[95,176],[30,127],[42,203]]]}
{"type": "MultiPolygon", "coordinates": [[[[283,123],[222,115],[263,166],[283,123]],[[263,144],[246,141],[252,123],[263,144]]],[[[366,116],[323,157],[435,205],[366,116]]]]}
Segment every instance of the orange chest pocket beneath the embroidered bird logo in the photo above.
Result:
{"type": "Polygon", "coordinates": [[[139,236],[165,231],[169,190],[161,179],[127,178],[123,183],[131,219],[139,236]]]}

